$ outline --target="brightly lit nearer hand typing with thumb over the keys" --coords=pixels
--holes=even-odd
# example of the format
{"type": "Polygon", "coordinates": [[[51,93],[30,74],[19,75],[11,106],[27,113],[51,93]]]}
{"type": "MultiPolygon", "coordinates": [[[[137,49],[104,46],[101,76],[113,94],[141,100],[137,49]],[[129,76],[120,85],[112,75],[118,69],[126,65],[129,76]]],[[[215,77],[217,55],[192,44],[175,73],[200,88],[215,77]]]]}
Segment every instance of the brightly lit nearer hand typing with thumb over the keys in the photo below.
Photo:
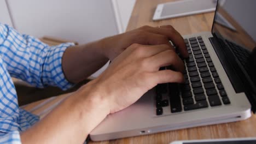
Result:
{"type": "Polygon", "coordinates": [[[132,44],[94,80],[95,91],[114,113],[135,103],[158,83],[183,82],[184,64],[170,45],[132,44]],[[174,70],[161,70],[172,65],[174,70]],[[97,89],[97,90],[96,90],[97,89]]]}

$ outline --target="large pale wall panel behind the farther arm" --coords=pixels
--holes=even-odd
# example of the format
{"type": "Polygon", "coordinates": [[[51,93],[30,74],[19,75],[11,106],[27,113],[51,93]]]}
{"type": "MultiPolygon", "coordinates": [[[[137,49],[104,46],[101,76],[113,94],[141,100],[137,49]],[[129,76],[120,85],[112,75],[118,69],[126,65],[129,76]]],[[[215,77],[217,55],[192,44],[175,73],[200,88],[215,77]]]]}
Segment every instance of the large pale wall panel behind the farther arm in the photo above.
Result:
{"type": "Polygon", "coordinates": [[[110,0],[8,0],[21,33],[50,35],[80,44],[118,33],[110,0]]]}

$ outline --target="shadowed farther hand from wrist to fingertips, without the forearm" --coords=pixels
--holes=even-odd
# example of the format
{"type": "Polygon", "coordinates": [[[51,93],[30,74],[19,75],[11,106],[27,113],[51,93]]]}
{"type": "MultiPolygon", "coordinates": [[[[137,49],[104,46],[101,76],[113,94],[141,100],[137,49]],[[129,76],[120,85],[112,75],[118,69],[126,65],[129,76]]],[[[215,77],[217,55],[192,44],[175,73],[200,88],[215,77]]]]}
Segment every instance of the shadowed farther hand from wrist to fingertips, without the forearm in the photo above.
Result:
{"type": "Polygon", "coordinates": [[[133,31],[102,39],[102,51],[106,57],[113,61],[115,57],[132,44],[166,44],[170,46],[170,49],[173,49],[170,40],[178,47],[183,57],[188,57],[188,51],[181,34],[170,25],[160,27],[143,26],[133,31]]]}

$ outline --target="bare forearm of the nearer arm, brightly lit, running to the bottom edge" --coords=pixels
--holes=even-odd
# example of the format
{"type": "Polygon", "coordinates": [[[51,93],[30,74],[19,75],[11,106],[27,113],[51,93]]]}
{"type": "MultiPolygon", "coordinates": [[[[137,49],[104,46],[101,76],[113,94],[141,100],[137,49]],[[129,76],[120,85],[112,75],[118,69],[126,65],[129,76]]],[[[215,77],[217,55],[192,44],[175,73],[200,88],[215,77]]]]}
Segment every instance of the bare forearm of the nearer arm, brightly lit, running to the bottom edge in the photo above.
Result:
{"type": "Polygon", "coordinates": [[[90,82],[21,134],[22,143],[83,143],[109,113],[90,82]],[[100,104],[100,105],[98,105],[100,104]]]}

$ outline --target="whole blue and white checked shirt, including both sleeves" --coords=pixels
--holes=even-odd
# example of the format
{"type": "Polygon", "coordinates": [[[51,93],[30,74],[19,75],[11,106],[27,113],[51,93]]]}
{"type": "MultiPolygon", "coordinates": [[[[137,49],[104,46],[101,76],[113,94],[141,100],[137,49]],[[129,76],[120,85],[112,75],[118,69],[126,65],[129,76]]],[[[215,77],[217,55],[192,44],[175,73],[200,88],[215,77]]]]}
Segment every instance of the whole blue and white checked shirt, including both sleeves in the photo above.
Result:
{"type": "Polygon", "coordinates": [[[11,76],[36,87],[72,87],[61,66],[63,52],[72,45],[49,46],[0,23],[0,143],[21,143],[20,131],[39,121],[20,109],[11,76]]]}

